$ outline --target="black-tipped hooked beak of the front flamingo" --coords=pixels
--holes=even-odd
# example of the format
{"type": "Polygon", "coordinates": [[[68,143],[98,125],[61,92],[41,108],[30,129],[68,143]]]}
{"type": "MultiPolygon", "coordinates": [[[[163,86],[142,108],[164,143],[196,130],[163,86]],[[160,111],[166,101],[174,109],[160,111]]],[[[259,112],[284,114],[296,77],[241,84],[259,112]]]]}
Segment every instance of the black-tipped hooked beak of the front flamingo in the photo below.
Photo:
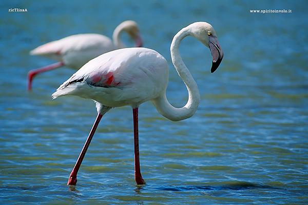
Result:
{"type": "Polygon", "coordinates": [[[223,51],[222,51],[222,48],[219,45],[217,37],[215,37],[213,35],[209,35],[208,39],[209,39],[209,45],[208,45],[209,50],[210,50],[210,52],[213,56],[213,64],[212,64],[212,67],[210,69],[210,72],[214,73],[221,63],[221,60],[223,58],[223,51]]]}

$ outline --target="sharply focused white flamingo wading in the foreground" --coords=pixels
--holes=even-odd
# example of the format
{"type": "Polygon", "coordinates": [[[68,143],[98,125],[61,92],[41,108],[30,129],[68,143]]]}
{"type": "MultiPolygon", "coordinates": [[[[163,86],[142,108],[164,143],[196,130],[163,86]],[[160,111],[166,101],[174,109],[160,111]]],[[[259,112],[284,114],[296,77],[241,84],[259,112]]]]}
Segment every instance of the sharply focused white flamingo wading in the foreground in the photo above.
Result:
{"type": "Polygon", "coordinates": [[[200,102],[197,84],[179,53],[180,42],[186,36],[197,38],[210,49],[213,56],[212,73],[223,58],[216,32],[208,23],[190,24],[175,35],[170,47],[171,59],[188,90],[188,101],[182,108],[170,105],[166,97],[169,73],[166,59],[157,51],[148,48],[124,48],[100,55],[85,64],[52,94],[53,99],[63,95],[91,98],[95,101],[98,111],[86,143],[69,176],[68,185],[76,185],[77,172],[102,116],[111,108],[122,106],[132,108],[134,175],[137,185],[145,184],[139,160],[139,106],[151,100],[161,115],[172,121],[179,121],[194,115],[200,102]]]}

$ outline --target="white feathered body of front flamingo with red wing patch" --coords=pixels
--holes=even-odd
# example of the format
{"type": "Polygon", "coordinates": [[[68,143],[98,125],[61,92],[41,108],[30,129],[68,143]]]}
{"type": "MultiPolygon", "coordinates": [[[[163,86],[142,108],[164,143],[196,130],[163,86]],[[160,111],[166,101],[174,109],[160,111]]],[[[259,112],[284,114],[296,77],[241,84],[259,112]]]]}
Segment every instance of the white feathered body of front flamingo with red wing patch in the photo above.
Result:
{"type": "Polygon", "coordinates": [[[167,61],[158,52],[147,48],[118,49],[90,60],[52,96],[78,95],[107,107],[135,108],[163,95],[168,75],[167,61]]]}

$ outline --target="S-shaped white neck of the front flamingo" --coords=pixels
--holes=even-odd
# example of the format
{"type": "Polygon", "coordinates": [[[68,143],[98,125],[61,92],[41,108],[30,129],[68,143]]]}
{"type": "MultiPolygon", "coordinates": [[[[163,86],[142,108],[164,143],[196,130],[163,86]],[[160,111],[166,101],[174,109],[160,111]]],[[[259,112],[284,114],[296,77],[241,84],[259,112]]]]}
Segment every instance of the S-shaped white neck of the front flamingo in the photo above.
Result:
{"type": "Polygon", "coordinates": [[[152,100],[157,111],[172,121],[179,121],[191,117],[195,114],[200,103],[198,86],[185,66],[179,53],[180,43],[182,39],[188,35],[191,35],[190,31],[187,28],[182,29],[175,35],[170,47],[172,63],[180,77],[183,79],[188,90],[188,101],[186,105],[182,108],[175,108],[168,102],[166,93],[152,100]]]}

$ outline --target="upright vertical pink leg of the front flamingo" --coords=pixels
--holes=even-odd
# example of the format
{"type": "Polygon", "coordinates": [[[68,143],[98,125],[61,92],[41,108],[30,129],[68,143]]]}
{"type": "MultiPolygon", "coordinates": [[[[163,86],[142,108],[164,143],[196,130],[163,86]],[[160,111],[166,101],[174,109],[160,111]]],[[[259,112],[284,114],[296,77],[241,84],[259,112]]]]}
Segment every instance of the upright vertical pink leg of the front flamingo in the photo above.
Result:
{"type": "Polygon", "coordinates": [[[135,161],[135,180],[137,185],[144,185],[145,181],[141,176],[139,161],[139,130],[138,130],[138,108],[132,109],[133,114],[133,139],[134,139],[134,161],[135,161]]]}

